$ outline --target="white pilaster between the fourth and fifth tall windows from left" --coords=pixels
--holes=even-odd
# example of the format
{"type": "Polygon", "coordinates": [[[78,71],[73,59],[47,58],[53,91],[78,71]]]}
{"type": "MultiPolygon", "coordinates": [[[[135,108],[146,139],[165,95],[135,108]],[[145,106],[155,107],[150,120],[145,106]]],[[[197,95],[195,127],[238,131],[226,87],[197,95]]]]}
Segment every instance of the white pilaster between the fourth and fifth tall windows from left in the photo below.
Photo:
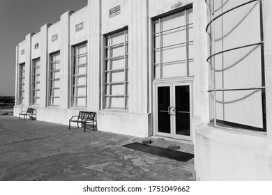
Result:
{"type": "Polygon", "coordinates": [[[87,107],[91,111],[98,111],[100,109],[101,0],[88,1],[88,8],[87,107]]]}

